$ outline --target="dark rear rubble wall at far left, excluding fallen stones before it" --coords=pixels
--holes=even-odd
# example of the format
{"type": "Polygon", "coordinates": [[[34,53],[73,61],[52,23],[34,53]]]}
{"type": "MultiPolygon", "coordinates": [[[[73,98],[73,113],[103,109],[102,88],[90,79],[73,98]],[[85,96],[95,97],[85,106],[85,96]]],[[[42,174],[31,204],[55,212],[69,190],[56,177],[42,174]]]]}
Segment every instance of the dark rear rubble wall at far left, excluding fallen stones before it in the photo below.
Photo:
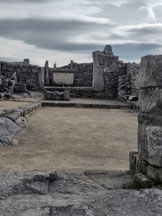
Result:
{"type": "Polygon", "coordinates": [[[10,78],[15,72],[17,76],[17,83],[26,84],[28,90],[40,90],[39,76],[41,68],[36,65],[27,63],[7,63],[0,62],[1,75],[10,78]]]}

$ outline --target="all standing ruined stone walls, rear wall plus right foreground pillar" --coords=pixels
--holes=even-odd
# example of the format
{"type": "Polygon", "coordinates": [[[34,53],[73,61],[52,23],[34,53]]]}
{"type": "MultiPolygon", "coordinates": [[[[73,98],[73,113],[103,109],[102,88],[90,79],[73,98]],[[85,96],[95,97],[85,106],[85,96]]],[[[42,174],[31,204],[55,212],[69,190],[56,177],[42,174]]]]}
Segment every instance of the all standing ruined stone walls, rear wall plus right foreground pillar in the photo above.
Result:
{"type": "Polygon", "coordinates": [[[50,68],[24,62],[0,62],[0,97],[14,92],[44,91],[48,100],[73,97],[138,100],[138,152],[130,153],[133,173],[162,182],[162,55],[140,64],[124,63],[111,46],[93,52],[93,63],[50,68]],[[68,82],[67,82],[68,80],[68,82]],[[66,82],[65,82],[66,81],[66,82]]]}

